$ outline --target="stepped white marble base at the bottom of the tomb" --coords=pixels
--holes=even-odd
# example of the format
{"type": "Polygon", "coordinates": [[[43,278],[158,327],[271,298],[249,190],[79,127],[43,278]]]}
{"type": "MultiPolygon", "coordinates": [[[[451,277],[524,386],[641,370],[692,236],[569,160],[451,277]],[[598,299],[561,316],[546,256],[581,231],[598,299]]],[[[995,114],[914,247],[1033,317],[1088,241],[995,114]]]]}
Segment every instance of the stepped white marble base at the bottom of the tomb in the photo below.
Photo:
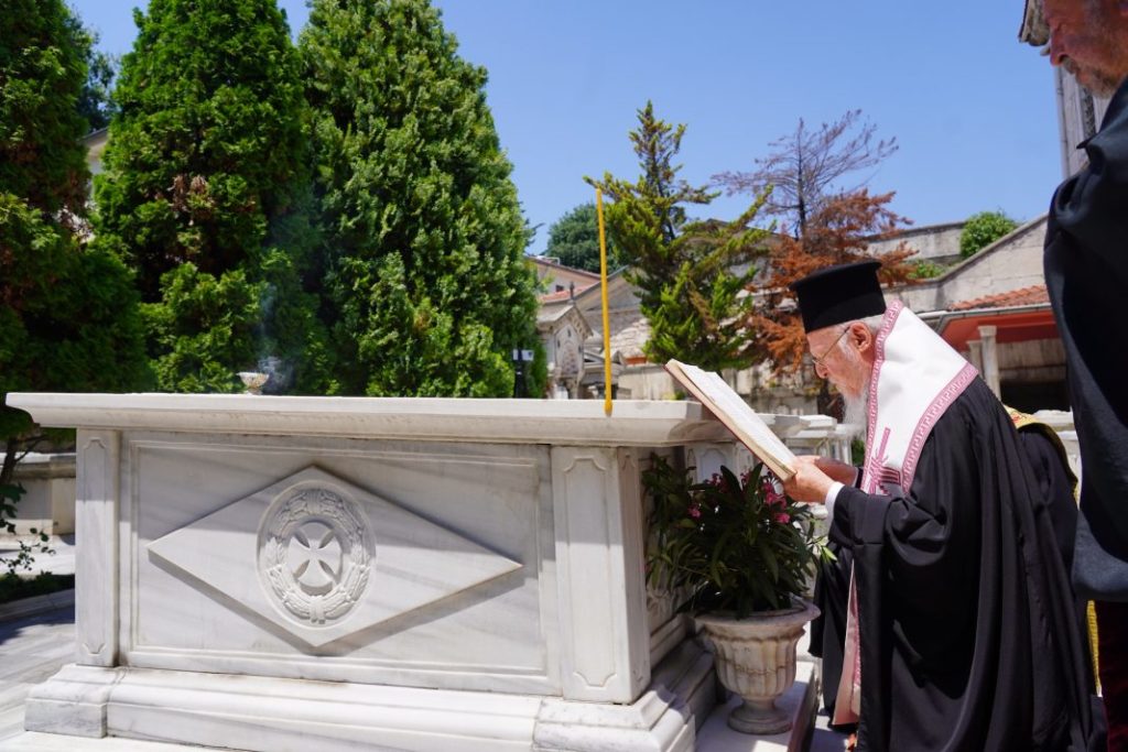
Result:
{"type": "MultiPolygon", "coordinates": [[[[619,705],[71,664],[30,691],[25,728],[58,734],[58,749],[74,752],[133,749],[124,738],[165,743],[155,750],[693,752],[694,720],[714,706],[712,665],[686,640],[659,665],[650,689],[619,705]]],[[[0,750],[56,749],[43,745],[41,734],[0,750]]]]}

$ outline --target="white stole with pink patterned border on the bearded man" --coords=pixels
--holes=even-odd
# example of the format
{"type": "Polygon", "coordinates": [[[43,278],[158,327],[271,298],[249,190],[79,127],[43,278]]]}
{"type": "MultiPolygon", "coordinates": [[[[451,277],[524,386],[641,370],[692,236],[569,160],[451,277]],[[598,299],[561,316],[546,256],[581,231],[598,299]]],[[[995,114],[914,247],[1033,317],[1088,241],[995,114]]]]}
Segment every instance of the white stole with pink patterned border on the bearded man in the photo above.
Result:
{"type": "MultiPolygon", "coordinates": [[[[862,490],[906,495],[920,449],[944,410],[978,375],[927,324],[896,301],[885,310],[874,344],[862,490]]],[[[835,724],[857,723],[862,708],[857,587],[851,569],[843,673],[835,724]]]]}

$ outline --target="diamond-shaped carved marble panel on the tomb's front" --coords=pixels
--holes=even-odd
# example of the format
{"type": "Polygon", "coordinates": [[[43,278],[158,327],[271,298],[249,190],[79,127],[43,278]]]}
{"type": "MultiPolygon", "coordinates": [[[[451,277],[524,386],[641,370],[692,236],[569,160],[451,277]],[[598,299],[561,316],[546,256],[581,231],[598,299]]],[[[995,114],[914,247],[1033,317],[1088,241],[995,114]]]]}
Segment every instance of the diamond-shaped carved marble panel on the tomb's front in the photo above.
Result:
{"type": "Polygon", "coordinates": [[[148,550],[314,647],[521,566],[316,467],[148,550]]]}

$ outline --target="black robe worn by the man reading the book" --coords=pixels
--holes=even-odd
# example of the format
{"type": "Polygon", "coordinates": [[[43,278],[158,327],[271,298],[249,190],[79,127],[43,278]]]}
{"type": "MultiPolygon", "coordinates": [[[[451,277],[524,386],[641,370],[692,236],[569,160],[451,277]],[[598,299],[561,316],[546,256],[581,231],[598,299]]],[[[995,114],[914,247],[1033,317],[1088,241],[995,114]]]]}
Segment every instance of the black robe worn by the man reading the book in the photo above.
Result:
{"type": "Polygon", "coordinates": [[[858,749],[1085,750],[1083,635],[1050,505],[1002,405],[976,379],[937,419],[908,494],[843,488],[853,556],[858,749]]]}

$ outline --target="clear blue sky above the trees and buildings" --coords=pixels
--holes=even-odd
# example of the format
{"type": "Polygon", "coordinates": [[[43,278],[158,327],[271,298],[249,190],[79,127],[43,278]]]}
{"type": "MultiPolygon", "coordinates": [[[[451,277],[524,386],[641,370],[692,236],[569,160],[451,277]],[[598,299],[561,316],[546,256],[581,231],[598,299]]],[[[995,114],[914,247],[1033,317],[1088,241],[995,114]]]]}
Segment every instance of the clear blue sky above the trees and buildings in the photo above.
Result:
{"type": "MultiPolygon", "coordinates": [[[[136,29],[121,0],[71,0],[102,48],[136,29]]],[[[297,36],[305,0],[282,0],[297,36]]],[[[637,176],[627,132],[647,99],[687,125],[681,176],[747,170],[768,144],[853,108],[896,136],[869,175],[916,224],[1001,209],[1046,211],[1060,179],[1054,78],[1019,44],[1021,0],[438,0],[460,54],[490,73],[487,101],[531,224],[592,201],[584,175],[637,176]]],[[[732,219],[750,197],[707,213],[732,219]]]]}

